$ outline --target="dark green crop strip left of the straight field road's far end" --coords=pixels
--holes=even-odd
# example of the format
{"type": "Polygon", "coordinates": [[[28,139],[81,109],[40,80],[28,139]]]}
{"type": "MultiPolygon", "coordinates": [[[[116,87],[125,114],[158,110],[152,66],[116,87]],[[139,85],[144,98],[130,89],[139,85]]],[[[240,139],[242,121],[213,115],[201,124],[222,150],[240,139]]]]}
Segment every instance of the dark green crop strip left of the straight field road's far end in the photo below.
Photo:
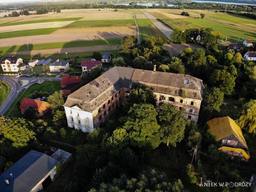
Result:
{"type": "Polygon", "coordinates": [[[116,19],[116,20],[80,20],[70,23],[62,29],[68,28],[92,28],[92,27],[119,27],[119,26],[134,26],[134,19],[116,19]]]}

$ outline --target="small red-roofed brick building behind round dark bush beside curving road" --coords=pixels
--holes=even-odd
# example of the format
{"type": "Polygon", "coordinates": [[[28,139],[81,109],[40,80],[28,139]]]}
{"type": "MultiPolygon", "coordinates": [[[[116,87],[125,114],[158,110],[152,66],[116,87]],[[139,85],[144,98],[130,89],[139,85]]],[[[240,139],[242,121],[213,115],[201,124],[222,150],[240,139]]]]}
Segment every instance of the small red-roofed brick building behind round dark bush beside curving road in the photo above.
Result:
{"type": "Polygon", "coordinates": [[[24,113],[27,107],[34,107],[38,111],[38,117],[44,116],[45,113],[50,111],[50,104],[45,101],[38,101],[34,99],[23,98],[19,108],[24,113]]]}

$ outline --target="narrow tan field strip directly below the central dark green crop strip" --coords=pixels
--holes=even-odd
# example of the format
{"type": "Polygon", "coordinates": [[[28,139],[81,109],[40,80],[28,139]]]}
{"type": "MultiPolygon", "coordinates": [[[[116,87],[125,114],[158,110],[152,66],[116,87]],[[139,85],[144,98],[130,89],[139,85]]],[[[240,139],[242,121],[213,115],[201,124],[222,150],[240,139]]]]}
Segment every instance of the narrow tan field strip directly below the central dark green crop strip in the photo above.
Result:
{"type": "Polygon", "coordinates": [[[99,28],[81,28],[81,29],[58,29],[51,34],[65,34],[65,33],[95,33],[95,32],[111,32],[111,31],[133,31],[136,33],[136,26],[127,27],[99,27],[99,28]]]}

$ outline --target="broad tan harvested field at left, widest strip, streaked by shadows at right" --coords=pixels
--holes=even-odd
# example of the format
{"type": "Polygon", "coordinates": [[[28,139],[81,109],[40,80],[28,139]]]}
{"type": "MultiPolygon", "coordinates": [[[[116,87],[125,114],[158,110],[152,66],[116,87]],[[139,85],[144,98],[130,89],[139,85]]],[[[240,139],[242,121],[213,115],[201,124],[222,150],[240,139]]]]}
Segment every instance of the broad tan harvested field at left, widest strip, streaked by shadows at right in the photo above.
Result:
{"type": "Polygon", "coordinates": [[[88,40],[101,40],[101,39],[122,39],[126,35],[136,35],[136,31],[109,31],[109,32],[96,32],[96,33],[67,33],[67,34],[49,34],[49,35],[36,35],[26,37],[14,37],[1,39],[0,47],[52,43],[52,42],[69,42],[69,41],[88,41],[88,40]],[[134,33],[135,32],[135,33],[134,33]]]}

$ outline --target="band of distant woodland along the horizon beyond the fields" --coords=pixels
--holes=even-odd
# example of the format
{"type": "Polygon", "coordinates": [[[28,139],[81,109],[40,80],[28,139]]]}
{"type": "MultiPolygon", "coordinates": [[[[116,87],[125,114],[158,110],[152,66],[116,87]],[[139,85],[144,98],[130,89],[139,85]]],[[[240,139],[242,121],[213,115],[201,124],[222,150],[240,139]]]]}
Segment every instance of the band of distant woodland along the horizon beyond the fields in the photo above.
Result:
{"type": "MultiPolygon", "coordinates": [[[[227,1],[227,0],[224,0],[227,1]]],[[[239,1],[236,1],[239,2],[239,1]]],[[[249,1],[248,1],[249,2],[249,1]]],[[[143,9],[143,8],[166,8],[166,9],[206,9],[206,10],[225,10],[227,6],[228,11],[238,11],[238,12],[250,12],[256,13],[256,6],[251,5],[234,5],[234,4],[222,4],[222,3],[197,3],[192,1],[166,1],[167,4],[176,5],[174,7],[168,7],[165,4],[160,4],[156,6],[143,6],[137,5],[137,3],[145,2],[132,2],[132,5],[116,5],[127,2],[115,2],[115,1],[105,1],[105,2],[89,2],[89,1],[53,1],[53,2],[33,2],[33,3],[16,3],[16,4],[6,4],[0,5],[0,10],[29,10],[36,11],[37,9],[90,9],[90,8],[113,8],[113,9],[143,9]]]]}

